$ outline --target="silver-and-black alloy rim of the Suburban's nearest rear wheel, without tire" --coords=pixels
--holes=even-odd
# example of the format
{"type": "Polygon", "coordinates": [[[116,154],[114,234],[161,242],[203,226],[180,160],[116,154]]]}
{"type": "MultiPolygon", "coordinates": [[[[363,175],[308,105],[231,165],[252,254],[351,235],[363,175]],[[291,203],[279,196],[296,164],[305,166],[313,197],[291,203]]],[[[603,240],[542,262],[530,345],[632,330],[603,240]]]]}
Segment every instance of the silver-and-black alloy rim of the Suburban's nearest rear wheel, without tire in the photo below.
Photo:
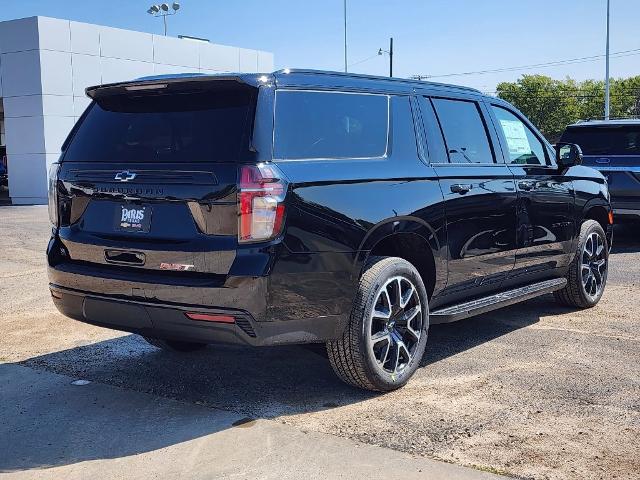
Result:
{"type": "Polygon", "coordinates": [[[397,276],[385,282],[371,311],[369,350],[376,365],[397,375],[413,359],[423,330],[423,312],[415,285],[397,276]]]}

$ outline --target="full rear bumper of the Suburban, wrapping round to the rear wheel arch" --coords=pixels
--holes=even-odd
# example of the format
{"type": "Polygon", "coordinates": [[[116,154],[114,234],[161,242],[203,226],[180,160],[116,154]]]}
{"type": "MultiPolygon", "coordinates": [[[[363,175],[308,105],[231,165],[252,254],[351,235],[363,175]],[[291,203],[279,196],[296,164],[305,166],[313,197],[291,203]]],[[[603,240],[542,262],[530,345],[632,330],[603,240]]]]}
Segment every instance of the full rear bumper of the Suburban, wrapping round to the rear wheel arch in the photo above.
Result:
{"type": "Polygon", "coordinates": [[[76,320],[157,338],[324,342],[344,330],[356,291],[353,253],[292,253],[280,244],[236,251],[226,274],[164,272],[73,260],[52,233],[48,276],[57,308],[76,320]],[[232,315],[236,322],[196,321],[186,312],[232,315]]]}

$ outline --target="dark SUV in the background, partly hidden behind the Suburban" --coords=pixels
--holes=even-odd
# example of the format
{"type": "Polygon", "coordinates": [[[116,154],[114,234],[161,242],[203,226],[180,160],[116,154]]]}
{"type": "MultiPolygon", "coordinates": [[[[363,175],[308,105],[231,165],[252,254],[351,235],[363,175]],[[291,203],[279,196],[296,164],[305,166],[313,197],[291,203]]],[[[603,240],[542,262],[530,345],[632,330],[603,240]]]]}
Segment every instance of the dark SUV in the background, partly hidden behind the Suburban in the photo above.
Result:
{"type": "Polygon", "coordinates": [[[606,177],[615,215],[640,221],[640,119],[578,122],[561,141],[580,145],[584,165],[606,177]]]}

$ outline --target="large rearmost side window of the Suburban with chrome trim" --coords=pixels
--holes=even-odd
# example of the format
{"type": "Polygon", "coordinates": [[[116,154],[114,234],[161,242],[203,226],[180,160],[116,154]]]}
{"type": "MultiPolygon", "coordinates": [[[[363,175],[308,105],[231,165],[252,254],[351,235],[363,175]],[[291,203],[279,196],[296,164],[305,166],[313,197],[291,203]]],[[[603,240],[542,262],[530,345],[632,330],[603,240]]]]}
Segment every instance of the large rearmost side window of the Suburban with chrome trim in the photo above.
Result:
{"type": "Polygon", "coordinates": [[[389,97],[280,90],[274,129],[274,157],[280,160],[383,157],[389,97]]]}

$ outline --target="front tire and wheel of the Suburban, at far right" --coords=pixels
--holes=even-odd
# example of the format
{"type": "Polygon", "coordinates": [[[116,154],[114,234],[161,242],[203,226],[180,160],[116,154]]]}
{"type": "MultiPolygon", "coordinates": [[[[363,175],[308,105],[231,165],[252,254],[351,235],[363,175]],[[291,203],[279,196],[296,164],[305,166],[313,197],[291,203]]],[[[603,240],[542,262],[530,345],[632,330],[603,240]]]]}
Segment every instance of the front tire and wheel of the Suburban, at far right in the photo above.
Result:
{"type": "MultiPolygon", "coordinates": [[[[596,247],[597,249],[597,247],[596,247]]],[[[600,261],[600,260],[598,260],[600,261]]],[[[596,267],[597,269],[597,267],[596,267]]],[[[561,305],[567,305],[576,308],[591,308],[595,306],[604,293],[604,289],[607,284],[607,274],[609,271],[609,245],[607,245],[607,237],[604,230],[598,222],[595,220],[585,220],[580,227],[580,235],[578,237],[578,246],[576,249],[576,255],[571,262],[569,271],[567,273],[567,285],[562,290],[554,292],[556,301],[561,305]],[[588,242],[593,245],[594,235],[598,236],[602,242],[603,250],[600,254],[602,260],[604,260],[604,270],[599,273],[601,278],[601,287],[597,288],[594,293],[593,285],[597,286],[596,273],[594,273],[593,266],[590,269],[583,267],[583,263],[589,262],[590,265],[594,264],[588,260],[588,252],[585,248],[589,249],[588,242]],[[583,277],[583,271],[585,275],[594,276],[594,284],[587,282],[585,284],[585,277],[583,277]],[[587,291],[590,289],[591,291],[587,291]]]]}

